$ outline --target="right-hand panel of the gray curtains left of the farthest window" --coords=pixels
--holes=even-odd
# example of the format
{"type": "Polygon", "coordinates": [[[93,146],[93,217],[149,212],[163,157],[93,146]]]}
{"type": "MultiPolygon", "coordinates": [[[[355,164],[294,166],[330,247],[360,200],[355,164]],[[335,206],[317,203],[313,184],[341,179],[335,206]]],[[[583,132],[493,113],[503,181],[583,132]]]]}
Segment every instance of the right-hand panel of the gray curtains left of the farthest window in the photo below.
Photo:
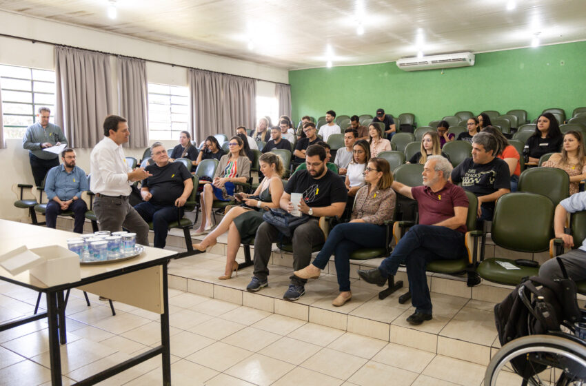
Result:
{"type": "Polygon", "coordinates": [[[228,138],[236,134],[236,127],[254,128],[256,121],[256,80],[222,75],[223,131],[228,138]]]}

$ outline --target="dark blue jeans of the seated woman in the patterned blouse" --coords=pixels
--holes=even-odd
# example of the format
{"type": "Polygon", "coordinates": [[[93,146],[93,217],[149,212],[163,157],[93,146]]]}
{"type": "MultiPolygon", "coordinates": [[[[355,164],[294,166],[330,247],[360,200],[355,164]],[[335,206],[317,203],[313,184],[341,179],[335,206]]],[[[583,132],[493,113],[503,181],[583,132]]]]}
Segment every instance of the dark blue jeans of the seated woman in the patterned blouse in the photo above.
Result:
{"type": "Polygon", "coordinates": [[[340,291],[350,291],[350,254],[360,248],[385,247],[386,227],[368,223],[343,223],[334,227],[312,263],[323,270],[335,254],[340,291]]]}

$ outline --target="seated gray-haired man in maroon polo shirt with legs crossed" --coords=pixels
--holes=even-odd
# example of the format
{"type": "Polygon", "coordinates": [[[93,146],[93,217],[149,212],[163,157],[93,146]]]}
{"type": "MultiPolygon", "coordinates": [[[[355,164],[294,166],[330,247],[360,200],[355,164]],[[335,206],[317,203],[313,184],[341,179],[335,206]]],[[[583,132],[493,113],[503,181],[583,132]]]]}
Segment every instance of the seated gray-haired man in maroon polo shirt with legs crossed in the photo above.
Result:
{"type": "Polygon", "coordinates": [[[413,325],[432,318],[432,299],[425,276],[427,262],[461,258],[466,253],[468,199],[461,187],[447,181],[451,173],[452,164],[447,159],[430,156],[423,167],[423,186],[393,182],[396,192],[417,201],[419,223],[399,240],[391,256],[378,268],[358,270],[363,280],[383,286],[389,275],[396,274],[400,264],[406,264],[411,303],[415,307],[407,322],[413,325]]]}

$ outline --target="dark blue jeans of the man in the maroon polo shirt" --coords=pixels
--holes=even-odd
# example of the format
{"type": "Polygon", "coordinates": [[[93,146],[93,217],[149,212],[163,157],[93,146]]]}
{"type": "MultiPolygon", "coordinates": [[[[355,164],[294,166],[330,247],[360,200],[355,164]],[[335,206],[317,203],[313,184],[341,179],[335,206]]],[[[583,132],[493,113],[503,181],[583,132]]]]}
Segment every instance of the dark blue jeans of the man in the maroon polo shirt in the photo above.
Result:
{"type": "Polygon", "coordinates": [[[425,265],[438,259],[462,258],[464,234],[448,227],[415,225],[399,240],[391,256],[378,267],[383,276],[396,274],[400,264],[407,265],[411,303],[416,312],[432,313],[432,298],[427,287],[425,265]]]}

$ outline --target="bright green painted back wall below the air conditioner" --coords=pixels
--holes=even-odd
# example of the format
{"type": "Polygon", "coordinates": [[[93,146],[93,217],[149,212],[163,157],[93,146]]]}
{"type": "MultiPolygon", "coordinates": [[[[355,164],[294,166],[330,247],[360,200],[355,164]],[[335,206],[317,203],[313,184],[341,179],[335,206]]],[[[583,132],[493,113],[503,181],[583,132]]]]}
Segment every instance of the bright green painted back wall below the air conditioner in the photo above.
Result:
{"type": "Polygon", "coordinates": [[[418,125],[469,110],[527,110],[586,106],[586,41],[476,54],[473,67],[405,72],[394,62],[289,72],[293,112],[394,116],[412,112],[418,125]]]}

